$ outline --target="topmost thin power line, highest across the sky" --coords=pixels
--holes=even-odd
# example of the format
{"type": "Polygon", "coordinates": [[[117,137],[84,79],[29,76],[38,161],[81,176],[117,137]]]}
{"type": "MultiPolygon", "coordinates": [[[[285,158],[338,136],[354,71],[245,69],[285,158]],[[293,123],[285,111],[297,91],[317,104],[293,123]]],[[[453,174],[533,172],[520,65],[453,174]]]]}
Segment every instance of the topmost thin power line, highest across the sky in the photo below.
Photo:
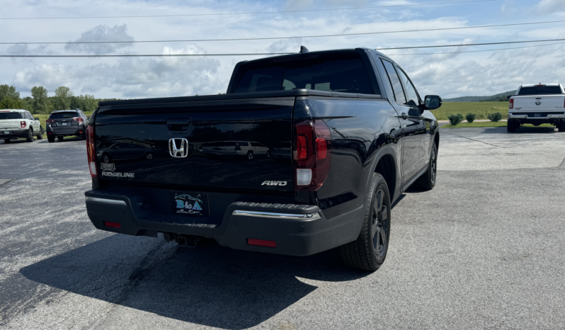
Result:
{"type": "Polygon", "coordinates": [[[393,7],[414,7],[414,6],[438,6],[443,4],[467,4],[474,2],[492,2],[500,0],[469,0],[469,1],[451,1],[451,2],[435,2],[430,4],[402,4],[391,6],[370,6],[370,7],[350,7],[350,8],[330,8],[330,9],[309,9],[302,11],[256,11],[249,13],[190,13],[190,14],[173,14],[173,15],[142,15],[142,16],[83,16],[83,17],[13,17],[0,18],[0,20],[50,20],[50,19],[86,19],[86,18],[144,18],[144,17],[183,17],[183,16],[225,16],[225,15],[263,15],[271,13],[305,13],[318,11],[350,11],[358,9],[374,9],[374,8],[393,8],[393,7]]]}

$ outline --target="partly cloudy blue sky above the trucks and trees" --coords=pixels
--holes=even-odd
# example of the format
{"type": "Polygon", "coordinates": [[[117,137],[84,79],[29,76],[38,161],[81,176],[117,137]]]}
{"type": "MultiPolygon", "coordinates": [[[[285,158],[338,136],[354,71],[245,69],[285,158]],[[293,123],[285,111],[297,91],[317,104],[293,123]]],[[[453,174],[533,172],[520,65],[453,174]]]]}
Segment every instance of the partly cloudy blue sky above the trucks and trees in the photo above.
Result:
{"type": "MultiPolygon", "coordinates": [[[[0,0],[0,42],[194,40],[304,37],[474,25],[565,21],[565,0],[0,0]],[[428,4],[426,6],[402,6],[428,4]],[[375,7],[346,10],[351,7],[375,7]],[[389,7],[383,7],[389,6],[389,7]],[[396,6],[396,7],[390,7],[396,6]],[[249,14],[266,11],[304,11],[249,14]],[[217,13],[246,13],[205,15],[217,13]],[[79,18],[84,16],[195,16],[79,18]],[[1,18],[45,18],[7,20],[1,18]]],[[[281,40],[137,44],[0,45],[0,55],[222,54],[414,47],[565,39],[565,22],[539,25],[281,40]]],[[[421,95],[484,96],[521,84],[565,84],[565,40],[520,45],[382,51],[411,77],[421,95]],[[493,50],[557,43],[543,47],[493,50]]],[[[225,93],[234,65],[265,55],[228,57],[0,58],[0,84],[30,96],[44,86],[97,98],[148,98],[225,93]]]]}

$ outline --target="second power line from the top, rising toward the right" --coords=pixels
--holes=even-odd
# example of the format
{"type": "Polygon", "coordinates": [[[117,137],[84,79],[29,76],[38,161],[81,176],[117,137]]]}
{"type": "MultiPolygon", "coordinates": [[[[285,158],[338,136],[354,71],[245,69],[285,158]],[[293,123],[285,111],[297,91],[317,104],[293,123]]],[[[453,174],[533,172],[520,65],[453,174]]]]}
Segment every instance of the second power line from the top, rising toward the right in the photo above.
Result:
{"type": "Polygon", "coordinates": [[[387,33],[406,33],[406,32],[430,32],[442,30],[466,30],[470,28],[498,28],[502,26],[515,25],[535,25],[535,24],[551,24],[563,23],[563,21],[546,21],[531,23],[511,23],[511,24],[495,24],[495,25],[476,25],[462,26],[459,28],[428,28],[423,30],[399,30],[399,31],[378,31],[365,33],[344,33],[338,35],[304,35],[302,37],[269,37],[269,38],[236,38],[236,39],[193,39],[193,40],[139,40],[139,41],[72,41],[72,42],[0,42],[0,45],[47,45],[47,44],[101,44],[101,43],[147,43],[147,42],[207,42],[207,41],[246,41],[246,40],[278,40],[278,39],[298,39],[298,38],[328,38],[328,37],[347,37],[352,35],[378,35],[387,33]]]}

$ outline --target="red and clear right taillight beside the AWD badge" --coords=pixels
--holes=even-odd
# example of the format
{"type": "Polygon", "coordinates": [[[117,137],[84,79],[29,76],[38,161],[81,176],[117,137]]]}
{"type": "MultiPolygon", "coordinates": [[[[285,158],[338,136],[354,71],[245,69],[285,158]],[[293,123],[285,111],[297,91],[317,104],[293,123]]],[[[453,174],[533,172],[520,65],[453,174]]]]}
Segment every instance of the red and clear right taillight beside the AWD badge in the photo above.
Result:
{"type": "Polygon", "coordinates": [[[329,174],[331,133],[324,120],[296,124],[295,190],[318,190],[329,174]]]}

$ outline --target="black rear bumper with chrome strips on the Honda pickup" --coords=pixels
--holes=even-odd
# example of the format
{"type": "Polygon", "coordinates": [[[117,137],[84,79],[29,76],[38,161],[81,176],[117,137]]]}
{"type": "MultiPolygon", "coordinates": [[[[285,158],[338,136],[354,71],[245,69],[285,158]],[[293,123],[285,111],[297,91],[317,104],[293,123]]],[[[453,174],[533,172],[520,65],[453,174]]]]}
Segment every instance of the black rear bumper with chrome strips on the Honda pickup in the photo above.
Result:
{"type": "Polygon", "coordinates": [[[232,249],[289,256],[309,256],[353,241],[363,224],[363,207],[328,220],[317,206],[244,202],[229,204],[221,224],[179,224],[172,212],[142,215],[139,200],[143,198],[135,193],[89,190],[85,195],[89,218],[101,230],[149,237],[159,232],[212,237],[232,249]],[[121,229],[104,222],[118,222],[121,229]],[[249,245],[248,239],[275,241],[276,247],[249,245]]]}

